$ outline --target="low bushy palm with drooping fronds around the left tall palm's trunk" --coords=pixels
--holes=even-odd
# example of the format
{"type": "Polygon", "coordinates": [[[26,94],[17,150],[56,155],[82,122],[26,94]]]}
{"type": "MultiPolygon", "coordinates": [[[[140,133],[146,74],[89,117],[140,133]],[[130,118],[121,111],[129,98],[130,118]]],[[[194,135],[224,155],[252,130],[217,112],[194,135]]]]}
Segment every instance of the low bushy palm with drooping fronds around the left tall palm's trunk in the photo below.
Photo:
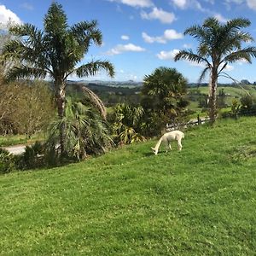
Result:
{"type": "Polygon", "coordinates": [[[101,154],[111,147],[108,127],[100,114],[88,102],[73,102],[71,98],[67,98],[65,118],[55,119],[49,125],[46,142],[49,152],[60,145],[59,132],[63,124],[66,127],[66,153],[70,158],[81,160],[88,154],[101,154]]]}

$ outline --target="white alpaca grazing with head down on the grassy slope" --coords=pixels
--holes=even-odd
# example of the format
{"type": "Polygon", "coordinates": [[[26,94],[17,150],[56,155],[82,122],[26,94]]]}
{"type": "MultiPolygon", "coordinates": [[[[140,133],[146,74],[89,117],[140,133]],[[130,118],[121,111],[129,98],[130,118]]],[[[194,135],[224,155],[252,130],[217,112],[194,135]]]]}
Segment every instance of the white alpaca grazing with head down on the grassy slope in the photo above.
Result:
{"type": "Polygon", "coordinates": [[[170,150],[172,150],[171,147],[171,141],[176,140],[177,141],[177,148],[178,150],[181,150],[183,148],[183,145],[181,143],[181,140],[183,139],[184,134],[182,131],[170,131],[166,132],[162,137],[160,137],[160,140],[156,143],[154,148],[151,148],[154,151],[154,154],[158,153],[158,150],[160,148],[160,144],[166,143],[166,152],[168,151],[168,147],[170,150]]]}

